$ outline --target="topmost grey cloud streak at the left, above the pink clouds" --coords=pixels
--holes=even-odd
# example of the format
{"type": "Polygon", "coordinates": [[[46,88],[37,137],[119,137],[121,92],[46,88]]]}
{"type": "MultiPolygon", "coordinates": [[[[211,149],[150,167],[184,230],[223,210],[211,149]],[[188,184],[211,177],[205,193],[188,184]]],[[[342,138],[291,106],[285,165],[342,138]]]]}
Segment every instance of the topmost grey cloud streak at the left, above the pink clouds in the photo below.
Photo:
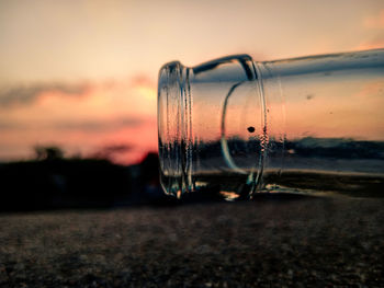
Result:
{"type": "Polygon", "coordinates": [[[65,95],[76,96],[83,94],[88,84],[69,84],[61,82],[35,83],[30,85],[11,85],[0,88],[0,107],[31,104],[43,92],[60,92],[65,95]]]}

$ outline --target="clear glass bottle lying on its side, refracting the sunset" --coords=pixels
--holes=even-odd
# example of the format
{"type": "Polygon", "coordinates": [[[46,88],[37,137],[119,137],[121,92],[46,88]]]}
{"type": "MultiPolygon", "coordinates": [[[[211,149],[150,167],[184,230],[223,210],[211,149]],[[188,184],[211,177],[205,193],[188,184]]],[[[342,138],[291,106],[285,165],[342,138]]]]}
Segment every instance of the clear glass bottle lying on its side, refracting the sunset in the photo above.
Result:
{"type": "Polygon", "coordinates": [[[178,197],[384,195],[384,49],[169,62],[158,133],[161,184],[178,197]]]}

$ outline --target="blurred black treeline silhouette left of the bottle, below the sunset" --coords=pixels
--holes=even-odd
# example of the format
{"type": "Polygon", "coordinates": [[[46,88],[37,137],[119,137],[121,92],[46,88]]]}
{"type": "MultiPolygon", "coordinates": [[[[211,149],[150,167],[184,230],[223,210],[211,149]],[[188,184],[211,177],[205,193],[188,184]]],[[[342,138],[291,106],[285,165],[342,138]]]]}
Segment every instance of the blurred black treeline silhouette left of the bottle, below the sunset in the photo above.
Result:
{"type": "Polygon", "coordinates": [[[0,164],[1,211],[167,201],[159,187],[157,153],[124,166],[108,159],[64,158],[57,147],[35,150],[35,160],[0,164]]]}

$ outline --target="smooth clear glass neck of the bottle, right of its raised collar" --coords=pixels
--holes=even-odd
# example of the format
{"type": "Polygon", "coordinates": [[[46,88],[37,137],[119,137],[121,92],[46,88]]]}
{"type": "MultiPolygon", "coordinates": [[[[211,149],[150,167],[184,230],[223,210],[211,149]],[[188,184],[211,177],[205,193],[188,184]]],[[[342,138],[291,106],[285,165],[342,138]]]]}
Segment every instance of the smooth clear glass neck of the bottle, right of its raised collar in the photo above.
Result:
{"type": "Polygon", "coordinates": [[[383,174],[384,49],[255,66],[268,135],[263,184],[294,173],[383,174]]]}

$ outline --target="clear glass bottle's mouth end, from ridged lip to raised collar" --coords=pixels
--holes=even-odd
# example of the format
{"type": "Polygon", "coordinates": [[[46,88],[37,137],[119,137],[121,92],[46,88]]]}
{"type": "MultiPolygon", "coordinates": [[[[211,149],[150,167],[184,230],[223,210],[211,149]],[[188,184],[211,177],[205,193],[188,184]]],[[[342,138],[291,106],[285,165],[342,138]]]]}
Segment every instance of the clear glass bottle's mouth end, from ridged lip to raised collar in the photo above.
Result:
{"type": "Polygon", "coordinates": [[[246,182],[236,193],[253,193],[264,158],[262,96],[258,73],[247,55],[192,68],[179,61],[162,66],[158,79],[158,147],[165,193],[181,197],[212,185],[234,191],[235,183],[228,176],[224,183],[219,175],[246,182]],[[249,127],[251,133],[247,133],[249,127]]]}

